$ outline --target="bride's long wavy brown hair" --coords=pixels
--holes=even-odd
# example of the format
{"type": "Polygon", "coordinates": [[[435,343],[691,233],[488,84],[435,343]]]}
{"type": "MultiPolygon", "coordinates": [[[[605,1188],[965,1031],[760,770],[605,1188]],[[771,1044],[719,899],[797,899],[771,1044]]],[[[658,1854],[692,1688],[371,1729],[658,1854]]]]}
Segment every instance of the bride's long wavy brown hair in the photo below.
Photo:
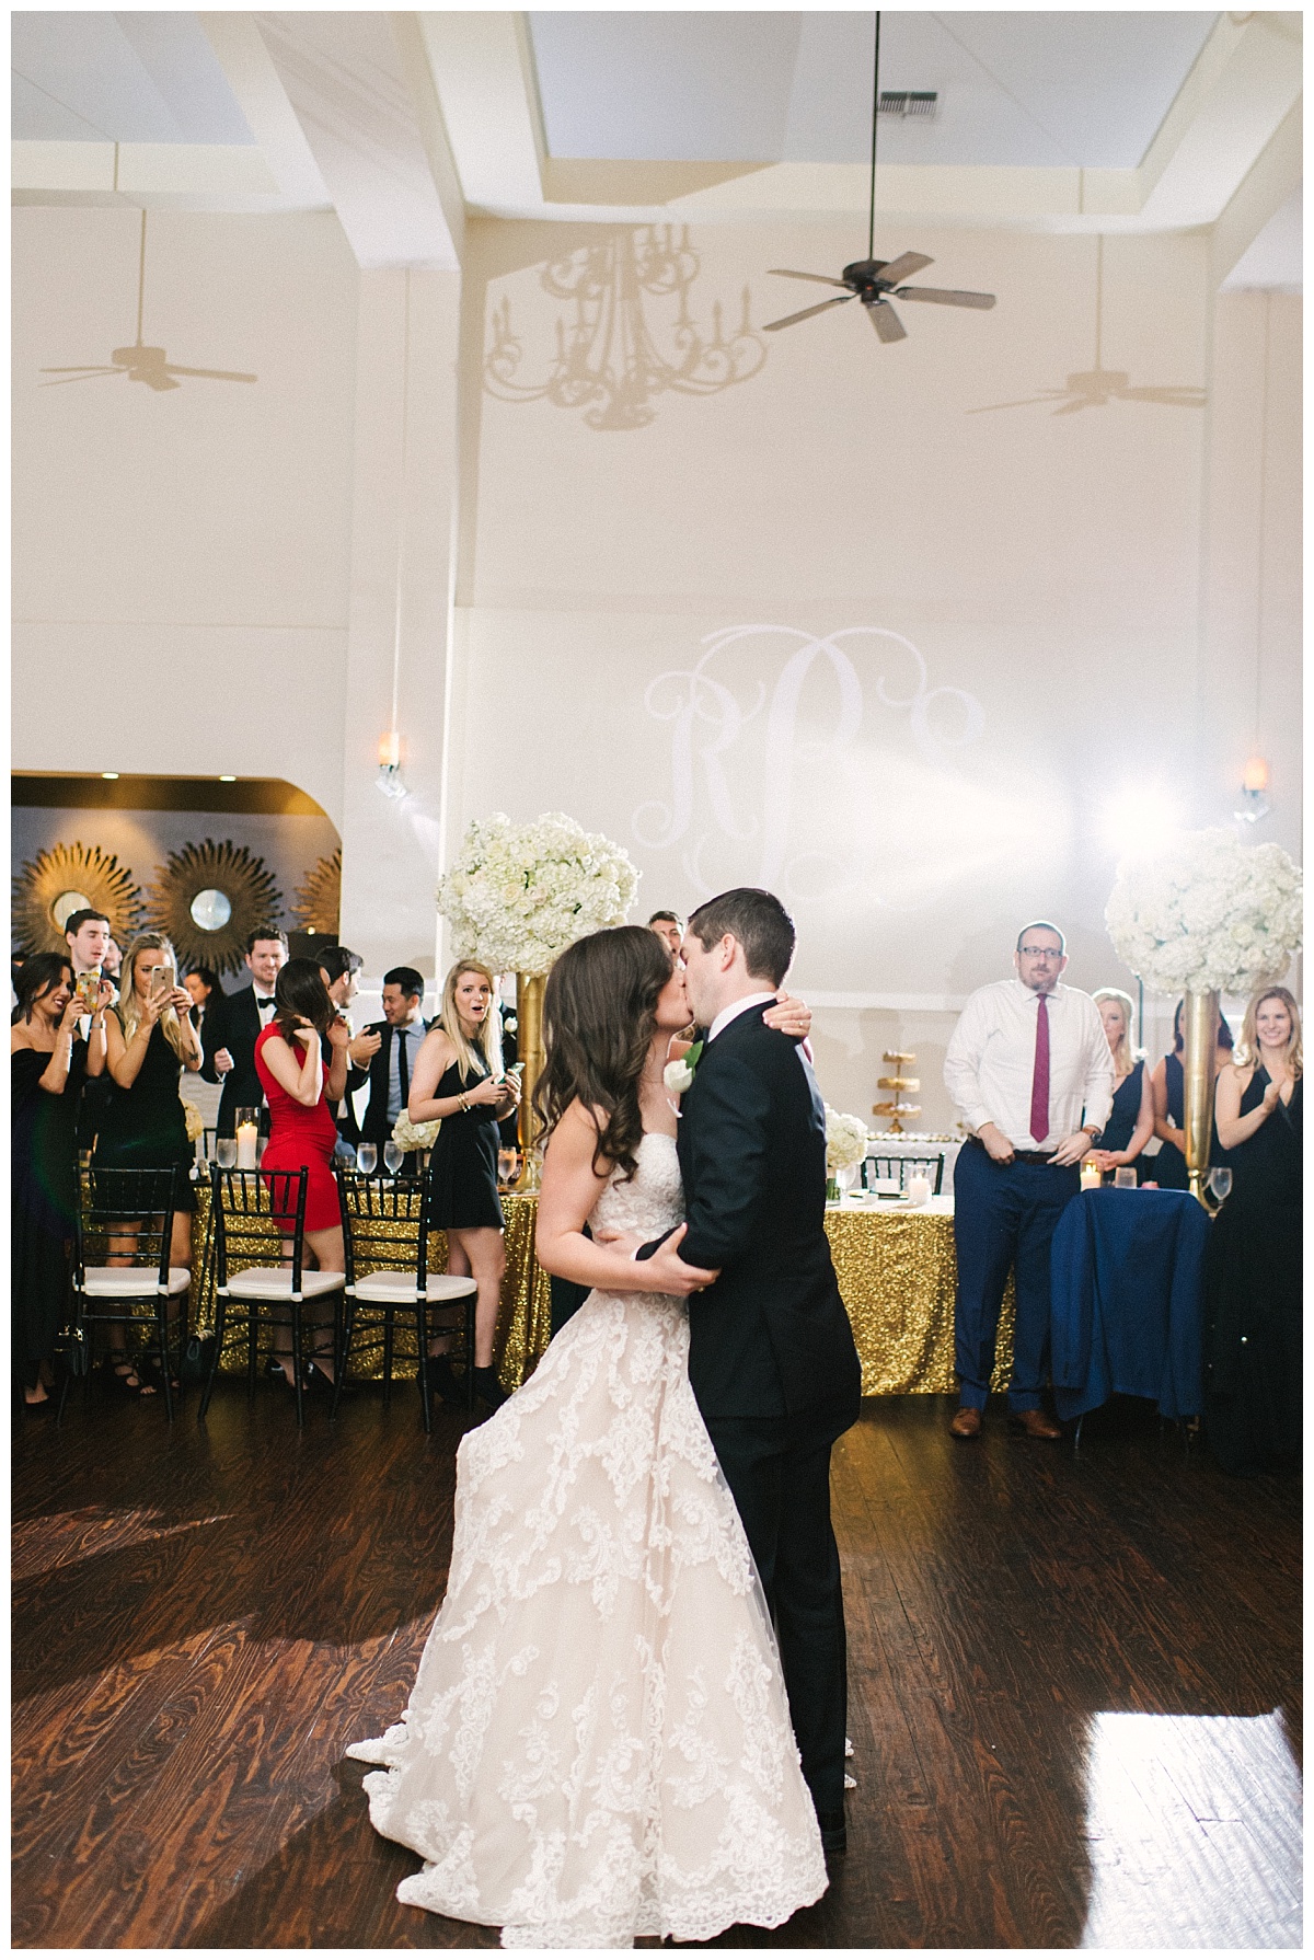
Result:
{"type": "Polygon", "coordinates": [[[543,1047],[533,1090],[543,1141],[581,1102],[592,1115],[600,1160],[630,1180],[643,1139],[639,1082],[657,1027],[657,996],[671,978],[671,955],[647,925],[616,925],[577,939],[547,974],[543,1047]]]}

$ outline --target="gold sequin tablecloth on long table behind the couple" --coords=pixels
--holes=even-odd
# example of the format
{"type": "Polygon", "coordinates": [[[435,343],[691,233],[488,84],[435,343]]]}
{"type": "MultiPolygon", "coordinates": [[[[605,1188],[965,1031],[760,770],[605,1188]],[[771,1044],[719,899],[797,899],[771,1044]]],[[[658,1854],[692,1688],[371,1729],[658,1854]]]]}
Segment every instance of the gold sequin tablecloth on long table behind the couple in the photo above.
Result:
{"type": "MultiPolygon", "coordinates": [[[[200,1190],[194,1221],[194,1272],[200,1272],[210,1192],[200,1190]]],[[[533,1256],[537,1198],[502,1198],[506,1211],[506,1280],[498,1321],[496,1364],[504,1388],[518,1388],[551,1339],[551,1294],[547,1274],[533,1256]]],[[[853,1339],[863,1364],[865,1396],[937,1396],[957,1388],[953,1374],[953,1207],[932,1203],[918,1211],[826,1213],[839,1292],[849,1309],[853,1339]]],[[[278,1241],[271,1235],[271,1264],[278,1260],[278,1241]]],[[[357,1235],[357,1264],[373,1272],[369,1231],[357,1235]]],[[[386,1264],[386,1260],[384,1260],[386,1264]]],[[[430,1237],[430,1264],[441,1272],[447,1247],[441,1233],[430,1237]]],[[[1012,1366],[1012,1280],[1004,1296],[992,1386],[1004,1388],[1012,1366]]],[[[214,1327],[214,1258],[192,1307],[192,1325],[214,1327]]],[[[229,1325],[224,1368],[241,1368],[245,1347],[237,1347],[245,1323],[229,1325]]],[[[414,1374],[414,1343],[398,1329],[396,1372],[414,1374]]]]}

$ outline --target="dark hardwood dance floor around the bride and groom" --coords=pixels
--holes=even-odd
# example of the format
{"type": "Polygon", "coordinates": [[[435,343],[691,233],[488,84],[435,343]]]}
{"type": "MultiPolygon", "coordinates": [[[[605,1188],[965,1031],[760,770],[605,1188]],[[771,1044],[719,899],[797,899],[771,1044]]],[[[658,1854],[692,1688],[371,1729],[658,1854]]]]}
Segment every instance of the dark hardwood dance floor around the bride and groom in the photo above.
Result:
{"type": "MultiPolygon", "coordinates": [[[[14,1942],[496,1946],[394,1899],[343,1748],[443,1595],[463,1419],[298,1437],[75,1396],[16,1435],[14,1942]]],[[[1300,1488],[1139,1403],[1071,1443],[865,1403],[835,1452],[859,1788],[826,1897],[722,1946],[1292,1946],[1300,1488]]]]}

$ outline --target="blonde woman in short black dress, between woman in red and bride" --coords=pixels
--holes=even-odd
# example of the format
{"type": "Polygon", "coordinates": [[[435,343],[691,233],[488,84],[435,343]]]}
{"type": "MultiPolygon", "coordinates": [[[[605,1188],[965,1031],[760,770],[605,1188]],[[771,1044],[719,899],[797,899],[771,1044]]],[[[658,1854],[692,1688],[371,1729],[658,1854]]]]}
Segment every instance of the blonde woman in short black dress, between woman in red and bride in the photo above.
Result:
{"type": "MultiPolygon", "coordinates": [[[[479,960],[457,960],[443,982],[443,1004],[424,1037],[410,1082],[412,1123],[441,1121],[430,1156],[426,1217],[447,1233],[447,1270],[471,1274],[475,1299],[475,1390],[496,1409],[506,1392],[492,1366],[502,1274],[504,1217],[498,1198],[498,1123],[520,1102],[520,1080],[502,1074],[498,1017],[492,1013],[492,972],[479,960]]],[[[447,1401],[465,1401],[445,1352],[433,1345],[433,1380],[447,1401]]]]}

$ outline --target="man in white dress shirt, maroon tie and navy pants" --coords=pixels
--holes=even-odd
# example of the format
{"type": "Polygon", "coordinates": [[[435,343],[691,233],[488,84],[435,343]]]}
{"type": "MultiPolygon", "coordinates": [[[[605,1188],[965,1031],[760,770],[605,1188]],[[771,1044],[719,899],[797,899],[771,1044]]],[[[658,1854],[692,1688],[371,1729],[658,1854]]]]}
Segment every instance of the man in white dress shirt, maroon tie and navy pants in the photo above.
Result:
{"type": "Polygon", "coordinates": [[[1114,1062],[1088,994],[1059,986],[1063,933],[1018,933],[1016,978],[977,988],[945,1051],[945,1088],[971,1137],[953,1166],[957,1249],[955,1437],[981,1435],[998,1309],[1012,1266],[1018,1296],[1008,1411],[1030,1435],[1059,1425],[1039,1405],[1049,1362],[1049,1243],[1081,1188],[1079,1162],[1108,1121],[1114,1062]]]}

